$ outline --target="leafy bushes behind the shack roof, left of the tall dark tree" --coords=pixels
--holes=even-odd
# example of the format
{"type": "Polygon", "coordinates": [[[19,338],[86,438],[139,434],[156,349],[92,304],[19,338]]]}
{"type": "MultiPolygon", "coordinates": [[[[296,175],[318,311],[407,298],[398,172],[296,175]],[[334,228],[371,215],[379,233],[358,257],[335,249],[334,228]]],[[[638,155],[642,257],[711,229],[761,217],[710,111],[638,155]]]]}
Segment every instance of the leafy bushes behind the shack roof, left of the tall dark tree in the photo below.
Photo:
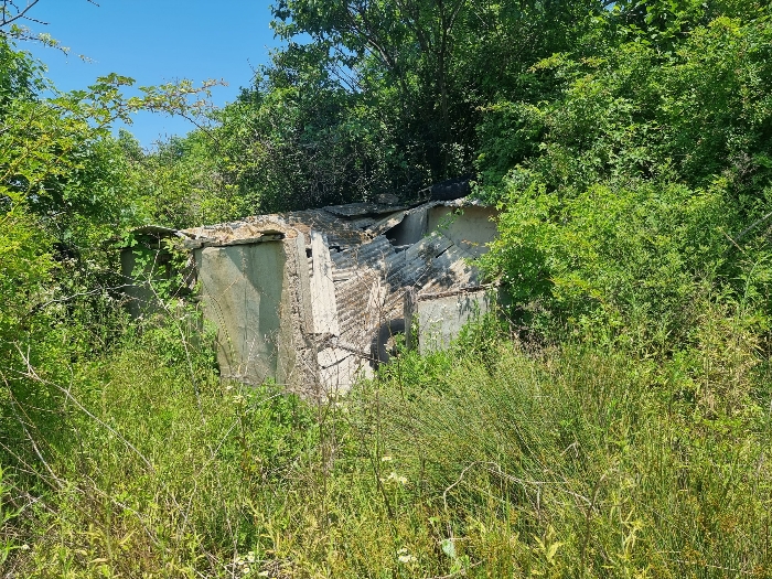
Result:
{"type": "Polygon", "coordinates": [[[182,226],[415,190],[426,170],[384,143],[372,96],[320,69],[320,50],[291,44],[215,126],[146,157],[144,194],[159,223],[182,226]]]}

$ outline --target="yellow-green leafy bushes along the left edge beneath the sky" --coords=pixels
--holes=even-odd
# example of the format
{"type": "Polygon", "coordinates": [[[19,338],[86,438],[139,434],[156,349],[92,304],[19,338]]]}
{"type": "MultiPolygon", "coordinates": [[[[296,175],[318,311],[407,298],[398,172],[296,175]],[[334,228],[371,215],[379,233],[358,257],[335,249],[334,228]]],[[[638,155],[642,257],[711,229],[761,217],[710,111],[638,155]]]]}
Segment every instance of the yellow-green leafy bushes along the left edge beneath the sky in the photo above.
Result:
{"type": "Polygon", "coordinates": [[[185,98],[206,90],[183,82],[126,99],[121,90],[133,81],[110,74],[87,90],[61,94],[43,72],[29,54],[0,40],[3,369],[17,365],[21,353],[47,356],[53,364],[57,355],[41,346],[55,344],[55,335],[60,344],[79,336],[71,351],[55,347],[65,358],[96,346],[86,336],[103,332],[86,326],[116,318],[110,288],[119,281],[109,242],[144,213],[129,158],[110,137],[110,125],[129,121],[140,108],[190,112],[201,105],[185,105],[185,98]],[[73,331],[77,326],[83,332],[73,331]]]}

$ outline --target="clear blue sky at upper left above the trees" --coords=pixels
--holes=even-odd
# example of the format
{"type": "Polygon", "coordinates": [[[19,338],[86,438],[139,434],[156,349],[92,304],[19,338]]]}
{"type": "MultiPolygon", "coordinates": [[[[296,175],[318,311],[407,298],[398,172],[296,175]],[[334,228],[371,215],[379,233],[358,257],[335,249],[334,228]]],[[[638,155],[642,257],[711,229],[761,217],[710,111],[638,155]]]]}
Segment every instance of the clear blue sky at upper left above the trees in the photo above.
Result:
{"type": "MultiPolygon", "coordinates": [[[[216,106],[234,100],[249,86],[253,68],[268,62],[279,45],[269,28],[270,0],[41,0],[30,15],[47,25],[28,23],[47,32],[61,51],[32,43],[32,52],[49,67],[47,76],[62,90],[85,88],[97,76],[118,73],[137,86],[190,78],[199,85],[213,78],[216,106]],[[83,55],[90,60],[85,62],[83,55]]],[[[159,136],[184,135],[191,125],[181,118],[139,114],[128,129],[149,148],[159,136]]]]}

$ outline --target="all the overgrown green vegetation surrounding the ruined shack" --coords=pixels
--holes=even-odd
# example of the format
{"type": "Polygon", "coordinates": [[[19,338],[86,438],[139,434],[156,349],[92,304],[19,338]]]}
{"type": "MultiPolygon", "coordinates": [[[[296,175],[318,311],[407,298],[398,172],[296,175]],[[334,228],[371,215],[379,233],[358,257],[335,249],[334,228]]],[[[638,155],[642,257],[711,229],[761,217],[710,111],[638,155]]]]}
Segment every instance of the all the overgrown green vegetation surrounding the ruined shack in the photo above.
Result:
{"type": "Polygon", "coordinates": [[[274,14],[255,85],[153,151],[110,124],[190,84],[57,94],[0,36],[2,577],[770,577],[769,7],[274,14]],[[464,173],[508,305],[345,398],[222,383],[163,288],[121,309],[133,226],[464,173]]]}

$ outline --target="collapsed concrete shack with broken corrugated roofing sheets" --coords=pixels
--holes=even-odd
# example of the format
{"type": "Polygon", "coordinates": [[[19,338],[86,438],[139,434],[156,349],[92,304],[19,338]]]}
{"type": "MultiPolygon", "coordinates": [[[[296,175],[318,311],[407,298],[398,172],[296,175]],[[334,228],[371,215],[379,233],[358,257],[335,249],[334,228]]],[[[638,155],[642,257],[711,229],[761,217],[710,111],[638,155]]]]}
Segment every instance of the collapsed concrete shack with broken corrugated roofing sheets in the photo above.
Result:
{"type": "MultiPolygon", "coordinates": [[[[224,378],[274,379],[315,397],[347,390],[406,328],[417,347],[440,347],[485,310],[491,298],[470,260],[495,237],[496,216],[464,197],[138,232],[180,238],[190,253],[224,378]]],[[[135,251],[121,260],[132,275],[135,251]]],[[[152,301],[138,280],[128,294],[135,315],[152,301]]]]}

